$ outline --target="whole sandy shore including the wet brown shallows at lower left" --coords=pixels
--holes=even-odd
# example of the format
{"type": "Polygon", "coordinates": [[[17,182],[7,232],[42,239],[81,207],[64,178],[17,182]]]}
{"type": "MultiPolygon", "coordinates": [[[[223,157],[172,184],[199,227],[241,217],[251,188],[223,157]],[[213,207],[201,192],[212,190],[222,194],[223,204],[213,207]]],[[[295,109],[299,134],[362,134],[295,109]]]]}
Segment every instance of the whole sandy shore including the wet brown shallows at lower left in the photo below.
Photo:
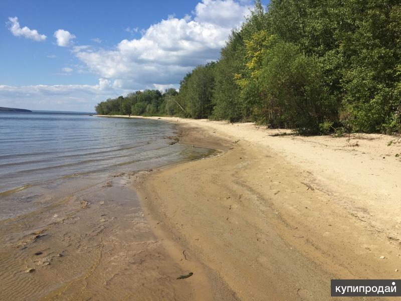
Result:
{"type": "Polygon", "coordinates": [[[395,137],[112,117],[169,122],[152,143],[192,155],[13,192],[0,298],[326,300],[330,279],[399,277],[395,137]]]}

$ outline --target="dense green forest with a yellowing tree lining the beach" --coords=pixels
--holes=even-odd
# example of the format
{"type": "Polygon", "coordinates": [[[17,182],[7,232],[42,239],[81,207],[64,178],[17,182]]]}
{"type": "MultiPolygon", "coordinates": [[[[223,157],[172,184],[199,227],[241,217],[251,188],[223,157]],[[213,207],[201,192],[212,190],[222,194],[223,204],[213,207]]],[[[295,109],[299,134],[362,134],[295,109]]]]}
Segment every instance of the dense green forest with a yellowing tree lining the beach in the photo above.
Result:
{"type": "Polygon", "coordinates": [[[136,91],[96,112],[399,133],[400,58],[399,0],[256,1],[220,59],[187,73],[179,91],[136,91]]]}

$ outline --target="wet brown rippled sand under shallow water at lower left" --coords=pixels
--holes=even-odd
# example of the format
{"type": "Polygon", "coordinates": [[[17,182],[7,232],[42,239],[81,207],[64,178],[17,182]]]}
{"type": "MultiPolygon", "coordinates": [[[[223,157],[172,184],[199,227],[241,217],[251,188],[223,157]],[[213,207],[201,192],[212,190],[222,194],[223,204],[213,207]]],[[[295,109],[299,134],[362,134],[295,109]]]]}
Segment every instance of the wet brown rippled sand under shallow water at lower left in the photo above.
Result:
{"type": "Polygon", "coordinates": [[[0,221],[0,299],[213,299],[216,276],[148,223],[134,189],[149,173],[116,174],[0,221]]]}

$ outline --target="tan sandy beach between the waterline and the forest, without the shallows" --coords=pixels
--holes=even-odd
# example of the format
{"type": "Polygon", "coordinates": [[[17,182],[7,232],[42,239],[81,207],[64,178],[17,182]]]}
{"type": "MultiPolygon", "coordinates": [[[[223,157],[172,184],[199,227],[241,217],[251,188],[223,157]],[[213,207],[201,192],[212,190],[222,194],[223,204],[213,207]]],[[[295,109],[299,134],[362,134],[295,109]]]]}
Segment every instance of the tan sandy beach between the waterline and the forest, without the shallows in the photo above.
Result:
{"type": "Polygon", "coordinates": [[[141,176],[142,207],[157,235],[240,299],[324,300],[332,278],[399,277],[401,145],[387,146],[394,137],[153,118],[178,123],[181,143],[222,155],[141,176]]]}

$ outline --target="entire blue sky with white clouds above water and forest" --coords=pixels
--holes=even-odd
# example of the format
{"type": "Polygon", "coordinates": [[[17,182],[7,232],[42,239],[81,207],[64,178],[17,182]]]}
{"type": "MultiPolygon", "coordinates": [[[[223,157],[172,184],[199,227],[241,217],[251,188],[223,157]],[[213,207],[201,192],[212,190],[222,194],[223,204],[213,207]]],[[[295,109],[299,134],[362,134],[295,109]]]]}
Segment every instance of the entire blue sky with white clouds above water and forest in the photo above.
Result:
{"type": "Polygon", "coordinates": [[[107,98],[178,88],[217,60],[251,0],[0,2],[0,106],[94,111],[107,98]]]}

